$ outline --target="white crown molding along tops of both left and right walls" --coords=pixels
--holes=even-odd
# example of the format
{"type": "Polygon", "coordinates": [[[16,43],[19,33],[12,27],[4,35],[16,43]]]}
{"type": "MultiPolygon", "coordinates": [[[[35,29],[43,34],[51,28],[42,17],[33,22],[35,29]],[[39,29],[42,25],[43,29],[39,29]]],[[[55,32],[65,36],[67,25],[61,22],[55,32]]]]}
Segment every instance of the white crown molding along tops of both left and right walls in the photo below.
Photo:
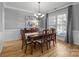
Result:
{"type": "MultiPolygon", "coordinates": [[[[53,13],[53,12],[55,12],[57,10],[61,10],[61,9],[67,8],[69,5],[76,5],[76,4],[79,4],[79,2],[70,2],[70,3],[68,3],[68,4],[64,5],[64,6],[56,8],[53,11],[49,11],[48,14],[53,13]]],[[[25,9],[21,9],[21,8],[16,8],[16,7],[8,6],[8,5],[6,5],[5,2],[3,2],[3,5],[4,5],[4,8],[8,8],[8,9],[13,9],[13,10],[22,11],[22,12],[28,12],[28,13],[31,13],[31,14],[35,13],[33,11],[29,11],[29,10],[25,10],[25,9]]]]}

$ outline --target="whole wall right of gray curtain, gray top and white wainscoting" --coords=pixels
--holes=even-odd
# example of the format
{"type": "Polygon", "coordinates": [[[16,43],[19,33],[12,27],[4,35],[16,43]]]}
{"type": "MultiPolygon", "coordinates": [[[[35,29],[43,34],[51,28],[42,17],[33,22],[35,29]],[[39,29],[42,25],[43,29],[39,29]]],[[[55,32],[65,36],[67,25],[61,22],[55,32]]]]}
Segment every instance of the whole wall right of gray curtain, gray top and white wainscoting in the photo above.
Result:
{"type": "Polygon", "coordinates": [[[73,40],[79,45],[79,4],[73,6],[73,40]]]}

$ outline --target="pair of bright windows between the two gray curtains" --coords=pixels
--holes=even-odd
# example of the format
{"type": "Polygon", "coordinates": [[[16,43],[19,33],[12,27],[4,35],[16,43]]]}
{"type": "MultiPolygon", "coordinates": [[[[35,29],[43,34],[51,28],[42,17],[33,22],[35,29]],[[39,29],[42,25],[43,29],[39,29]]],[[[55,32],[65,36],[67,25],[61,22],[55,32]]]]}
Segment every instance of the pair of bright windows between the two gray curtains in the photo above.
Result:
{"type": "Polygon", "coordinates": [[[67,27],[67,14],[59,14],[56,16],[49,17],[48,20],[49,28],[56,28],[57,35],[65,36],[66,35],[66,27],[67,27]]]}

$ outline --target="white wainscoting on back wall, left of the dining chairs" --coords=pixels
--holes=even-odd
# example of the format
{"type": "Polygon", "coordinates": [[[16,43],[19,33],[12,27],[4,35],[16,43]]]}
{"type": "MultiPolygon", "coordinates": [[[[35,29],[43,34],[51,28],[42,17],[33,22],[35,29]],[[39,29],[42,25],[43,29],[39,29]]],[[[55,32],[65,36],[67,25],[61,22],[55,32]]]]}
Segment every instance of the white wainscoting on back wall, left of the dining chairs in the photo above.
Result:
{"type": "Polygon", "coordinates": [[[14,29],[14,30],[6,30],[5,33],[5,41],[11,41],[11,40],[18,40],[20,39],[20,30],[14,29]]]}

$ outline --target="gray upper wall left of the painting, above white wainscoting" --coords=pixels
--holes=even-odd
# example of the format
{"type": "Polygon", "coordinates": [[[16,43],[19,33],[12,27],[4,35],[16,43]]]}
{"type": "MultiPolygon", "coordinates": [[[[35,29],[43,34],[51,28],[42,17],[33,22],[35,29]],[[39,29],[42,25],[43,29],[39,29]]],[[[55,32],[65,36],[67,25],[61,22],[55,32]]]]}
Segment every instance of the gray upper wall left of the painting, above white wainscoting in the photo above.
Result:
{"type": "Polygon", "coordinates": [[[26,12],[5,8],[5,29],[19,29],[25,27],[25,16],[29,16],[26,12]]]}

